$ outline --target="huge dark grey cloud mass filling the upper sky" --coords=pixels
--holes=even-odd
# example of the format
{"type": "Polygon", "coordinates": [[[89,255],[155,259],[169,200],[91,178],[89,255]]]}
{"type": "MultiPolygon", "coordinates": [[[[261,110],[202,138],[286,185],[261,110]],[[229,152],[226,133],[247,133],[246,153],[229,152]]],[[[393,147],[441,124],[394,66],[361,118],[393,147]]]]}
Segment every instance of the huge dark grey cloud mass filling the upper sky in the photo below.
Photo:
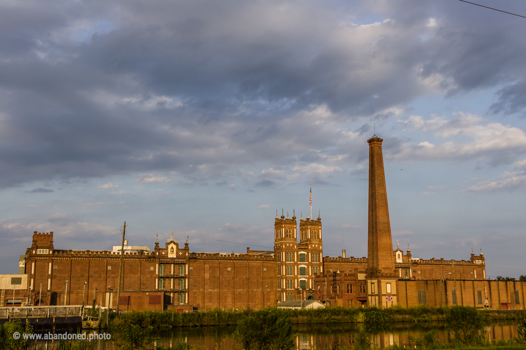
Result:
{"type": "MultiPolygon", "coordinates": [[[[524,76],[522,23],[508,17],[433,2],[337,6],[2,5],[0,186],[349,161],[337,157],[353,143],[336,122],[524,76]],[[360,26],[357,16],[388,19],[360,26]],[[320,106],[329,116],[312,114],[320,106]]],[[[517,89],[503,88],[493,110],[523,109],[517,89]]]]}

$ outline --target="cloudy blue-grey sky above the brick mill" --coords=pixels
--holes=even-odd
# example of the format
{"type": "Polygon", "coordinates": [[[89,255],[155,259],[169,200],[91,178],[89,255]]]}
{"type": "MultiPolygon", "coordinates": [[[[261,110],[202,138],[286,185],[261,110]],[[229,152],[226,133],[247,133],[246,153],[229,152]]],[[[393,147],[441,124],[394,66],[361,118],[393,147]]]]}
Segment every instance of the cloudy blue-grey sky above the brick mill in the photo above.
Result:
{"type": "Polygon", "coordinates": [[[112,249],[124,221],[271,250],[310,185],[323,255],[366,256],[376,133],[393,249],[526,275],[525,31],[456,0],[0,2],[0,273],[33,231],[112,249]]]}

